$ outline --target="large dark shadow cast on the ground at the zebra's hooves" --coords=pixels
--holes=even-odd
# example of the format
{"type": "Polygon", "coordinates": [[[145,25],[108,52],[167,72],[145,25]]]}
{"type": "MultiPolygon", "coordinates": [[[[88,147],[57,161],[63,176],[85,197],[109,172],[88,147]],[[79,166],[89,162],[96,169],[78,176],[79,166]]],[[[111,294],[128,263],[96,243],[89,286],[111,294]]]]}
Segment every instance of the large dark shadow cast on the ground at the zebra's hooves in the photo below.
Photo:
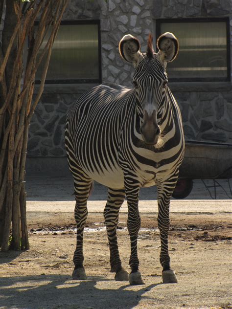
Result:
{"type": "Polygon", "coordinates": [[[139,304],[144,293],[161,284],[132,287],[121,282],[118,287],[119,283],[114,280],[103,277],[89,279],[76,281],[65,275],[0,278],[0,306],[29,309],[129,309],[139,304]]]}

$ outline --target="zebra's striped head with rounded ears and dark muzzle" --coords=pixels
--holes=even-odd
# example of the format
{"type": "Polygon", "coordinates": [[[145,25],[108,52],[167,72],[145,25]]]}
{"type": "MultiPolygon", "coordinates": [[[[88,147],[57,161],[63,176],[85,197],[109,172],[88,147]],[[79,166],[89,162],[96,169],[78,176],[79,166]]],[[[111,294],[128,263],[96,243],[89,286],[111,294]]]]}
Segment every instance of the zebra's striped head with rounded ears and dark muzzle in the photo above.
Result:
{"type": "Polygon", "coordinates": [[[133,84],[140,118],[140,133],[146,144],[157,145],[161,140],[160,122],[167,101],[167,62],[173,61],[179,50],[177,38],[170,32],[157,40],[158,52],[153,50],[149,35],[147,51],[141,53],[139,40],[125,35],[119,42],[121,57],[135,67],[133,84]]]}

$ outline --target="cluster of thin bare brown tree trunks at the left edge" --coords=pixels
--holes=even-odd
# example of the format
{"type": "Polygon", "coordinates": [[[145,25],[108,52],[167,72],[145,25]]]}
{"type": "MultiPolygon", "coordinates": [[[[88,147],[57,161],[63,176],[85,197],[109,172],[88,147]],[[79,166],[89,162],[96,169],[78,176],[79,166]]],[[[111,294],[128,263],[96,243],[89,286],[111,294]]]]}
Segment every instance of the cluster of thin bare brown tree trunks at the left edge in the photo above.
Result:
{"type": "Polygon", "coordinates": [[[67,4],[68,0],[33,1],[23,6],[22,14],[21,1],[6,2],[7,20],[0,53],[0,247],[3,251],[9,246],[16,250],[29,248],[24,186],[28,128],[43,93],[52,45],[67,4]],[[38,30],[34,33],[38,18],[38,30]],[[50,35],[38,58],[48,28],[50,35]],[[23,69],[27,39],[29,51],[23,69]],[[32,102],[35,73],[44,56],[41,84],[32,102]]]}

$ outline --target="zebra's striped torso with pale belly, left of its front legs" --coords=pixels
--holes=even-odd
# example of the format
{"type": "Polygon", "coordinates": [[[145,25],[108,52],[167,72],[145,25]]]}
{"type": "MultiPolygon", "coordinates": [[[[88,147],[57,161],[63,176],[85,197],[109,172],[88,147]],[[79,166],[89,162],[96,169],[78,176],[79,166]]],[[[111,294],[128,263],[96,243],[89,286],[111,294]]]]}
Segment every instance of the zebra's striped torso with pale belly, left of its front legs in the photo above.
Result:
{"type": "Polygon", "coordinates": [[[123,187],[118,151],[128,109],[133,114],[133,89],[100,85],[84,93],[67,116],[66,145],[75,145],[76,163],[88,177],[112,188],[123,187]]]}

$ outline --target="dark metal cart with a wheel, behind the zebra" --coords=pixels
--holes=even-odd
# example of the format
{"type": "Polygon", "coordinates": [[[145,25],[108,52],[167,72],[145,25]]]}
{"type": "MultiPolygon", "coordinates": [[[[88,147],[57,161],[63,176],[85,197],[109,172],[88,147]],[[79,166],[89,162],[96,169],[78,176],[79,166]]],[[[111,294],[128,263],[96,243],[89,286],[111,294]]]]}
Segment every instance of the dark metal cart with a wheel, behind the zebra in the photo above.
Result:
{"type": "Polygon", "coordinates": [[[230,178],[232,178],[232,144],[186,141],[184,161],[172,196],[175,199],[186,198],[192,191],[192,180],[202,179],[212,199],[216,199],[217,187],[221,187],[232,199],[230,178]],[[207,185],[204,179],[213,179],[213,185],[207,185]],[[229,195],[217,179],[227,179],[229,195]],[[214,196],[209,190],[211,187],[214,188],[214,196]]]}

